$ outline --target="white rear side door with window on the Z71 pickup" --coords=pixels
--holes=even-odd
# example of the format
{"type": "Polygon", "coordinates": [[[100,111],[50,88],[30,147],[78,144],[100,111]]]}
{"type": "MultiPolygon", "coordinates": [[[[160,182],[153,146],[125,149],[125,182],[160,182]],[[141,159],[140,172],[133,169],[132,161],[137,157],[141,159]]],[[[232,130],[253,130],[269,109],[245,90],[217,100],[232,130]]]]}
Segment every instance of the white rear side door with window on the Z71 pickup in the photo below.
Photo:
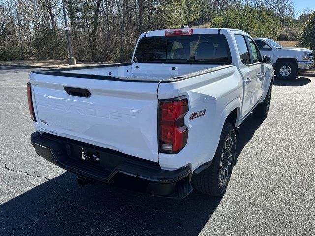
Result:
{"type": "Polygon", "coordinates": [[[246,116],[256,104],[255,92],[257,84],[257,71],[259,67],[257,63],[253,63],[252,51],[248,43],[247,36],[242,34],[235,34],[236,46],[240,57],[239,70],[244,81],[244,95],[242,105],[242,118],[246,116]]]}

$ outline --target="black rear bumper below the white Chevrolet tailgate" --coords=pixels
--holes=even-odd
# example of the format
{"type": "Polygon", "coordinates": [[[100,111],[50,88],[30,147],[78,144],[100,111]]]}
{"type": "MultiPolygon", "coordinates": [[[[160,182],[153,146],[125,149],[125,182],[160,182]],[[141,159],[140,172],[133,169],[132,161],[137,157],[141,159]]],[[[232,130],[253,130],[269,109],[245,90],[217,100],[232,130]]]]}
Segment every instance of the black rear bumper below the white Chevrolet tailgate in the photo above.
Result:
{"type": "Polygon", "coordinates": [[[38,155],[82,177],[105,183],[128,181],[135,189],[160,197],[184,198],[193,190],[189,166],[162,170],[156,162],[47,133],[33,133],[31,142],[38,155]],[[83,160],[82,148],[97,153],[99,160],[83,160]]]}

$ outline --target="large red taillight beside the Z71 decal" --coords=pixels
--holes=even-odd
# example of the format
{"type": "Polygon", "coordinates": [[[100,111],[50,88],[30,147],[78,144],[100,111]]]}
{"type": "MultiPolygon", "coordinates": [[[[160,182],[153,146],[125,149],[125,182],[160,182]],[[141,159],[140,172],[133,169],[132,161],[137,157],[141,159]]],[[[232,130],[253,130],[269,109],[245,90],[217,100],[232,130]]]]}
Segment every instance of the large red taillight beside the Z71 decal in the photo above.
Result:
{"type": "Polygon", "coordinates": [[[175,154],[187,142],[188,129],[184,116],[188,112],[187,98],[159,102],[159,151],[175,154]]]}

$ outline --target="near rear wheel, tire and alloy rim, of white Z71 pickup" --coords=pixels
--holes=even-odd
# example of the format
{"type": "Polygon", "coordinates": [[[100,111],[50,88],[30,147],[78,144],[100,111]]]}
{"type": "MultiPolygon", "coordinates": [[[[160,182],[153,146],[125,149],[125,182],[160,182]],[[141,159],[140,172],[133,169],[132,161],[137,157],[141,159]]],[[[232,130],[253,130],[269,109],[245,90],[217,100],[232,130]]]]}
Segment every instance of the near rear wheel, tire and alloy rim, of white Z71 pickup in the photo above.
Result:
{"type": "Polygon", "coordinates": [[[210,196],[225,193],[236,157],[236,134],[230,123],[225,123],[211,166],[192,178],[198,191],[210,196]]]}

